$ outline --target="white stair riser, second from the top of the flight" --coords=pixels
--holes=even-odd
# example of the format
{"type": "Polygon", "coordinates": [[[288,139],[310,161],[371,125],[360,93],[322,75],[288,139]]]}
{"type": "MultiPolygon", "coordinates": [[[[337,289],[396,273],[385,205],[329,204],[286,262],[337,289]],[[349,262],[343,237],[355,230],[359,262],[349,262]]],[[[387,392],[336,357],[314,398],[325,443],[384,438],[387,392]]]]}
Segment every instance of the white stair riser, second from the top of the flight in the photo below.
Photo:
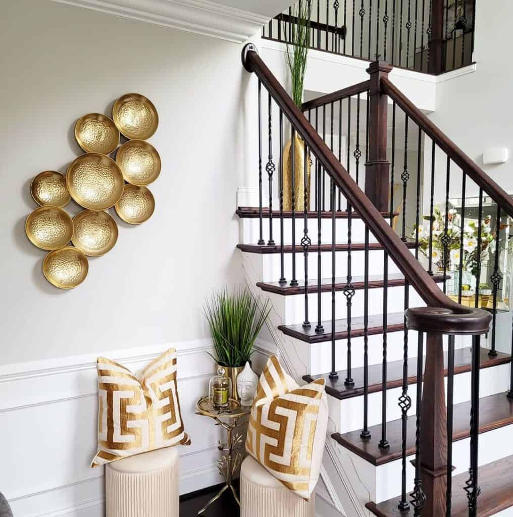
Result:
{"type": "MultiPolygon", "coordinates": [[[[413,250],[411,250],[413,251],[413,250]]],[[[277,282],[280,279],[280,254],[268,253],[259,254],[263,257],[263,281],[277,282]]],[[[351,273],[353,277],[363,276],[365,272],[365,252],[352,251],[351,273]]],[[[308,253],[308,278],[316,279],[318,253],[308,253]]],[[[292,279],[292,253],[284,253],[285,278],[290,282],[292,279]]],[[[383,274],[383,250],[369,251],[369,275],[383,274]]],[[[399,273],[394,261],[388,257],[388,274],[399,273]]],[[[335,274],[337,277],[346,277],[348,274],[348,252],[337,251],[335,254],[335,274]]],[[[331,278],[331,251],[321,252],[321,276],[331,278]]],[[[305,278],[305,255],[298,243],[296,251],[296,279],[305,278]]]]}

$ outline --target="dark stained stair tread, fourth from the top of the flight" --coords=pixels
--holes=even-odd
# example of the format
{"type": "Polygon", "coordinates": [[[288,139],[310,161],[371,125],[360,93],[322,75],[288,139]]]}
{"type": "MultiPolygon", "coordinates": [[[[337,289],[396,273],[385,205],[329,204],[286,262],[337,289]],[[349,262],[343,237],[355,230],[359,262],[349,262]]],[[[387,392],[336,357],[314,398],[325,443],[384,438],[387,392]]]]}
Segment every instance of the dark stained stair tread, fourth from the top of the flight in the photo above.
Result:
{"type": "MultiPolygon", "coordinates": [[[[287,336],[306,341],[307,343],[322,343],[331,341],[331,320],[322,322],[324,332],[315,332],[315,322],[309,328],[303,328],[302,324],[280,325],[278,328],[287,336]]],[[[387,317],[388,332],[398,332],[404,329],[404,312],[391,312],[387,317]]],[[[374,314],[369,316],[368,333],[383,333],[383,315],[374,314]]],[[[351,337],[356,338],[364,335],[364,317],[351,318],[351,337]]],[[[335,339],[346,339],[348,337],[348,320],[335,321],[335,339]]]]}

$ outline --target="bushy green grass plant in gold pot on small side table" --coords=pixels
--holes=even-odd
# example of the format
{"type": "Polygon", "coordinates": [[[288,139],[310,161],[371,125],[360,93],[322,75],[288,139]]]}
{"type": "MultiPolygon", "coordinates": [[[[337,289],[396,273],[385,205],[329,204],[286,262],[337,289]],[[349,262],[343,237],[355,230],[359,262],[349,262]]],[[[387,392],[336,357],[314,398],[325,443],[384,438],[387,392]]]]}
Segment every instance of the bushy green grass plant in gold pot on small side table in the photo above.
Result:
{"type": "Polygon", "coordinates": [[[269,300],[261,303],[248,288],[232,293],[224,288],[206,302],[204,312],[214,342],[215,356],[210,356],[225,369],[232,381],[232,396],[239,400],[237,375],[251,360],[254,342],[270,312],[269,300]]]}

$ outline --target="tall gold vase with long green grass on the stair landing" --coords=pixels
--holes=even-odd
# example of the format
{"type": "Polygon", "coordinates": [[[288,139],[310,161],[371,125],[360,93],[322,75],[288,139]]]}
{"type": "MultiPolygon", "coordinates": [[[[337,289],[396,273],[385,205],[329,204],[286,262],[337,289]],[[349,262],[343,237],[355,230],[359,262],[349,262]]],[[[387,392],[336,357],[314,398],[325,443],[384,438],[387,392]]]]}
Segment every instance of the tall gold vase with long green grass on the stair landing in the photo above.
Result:
{"type": "MultiPolygon", "coordinates": [[[[290,31],[290,40],[286,47],[286,62],[289,66],[292,80],[292,99],[296,106],[301,109],[303,103],[303,85],[305,82],[306,62],[310,41],[310,14],[311,2],[299,1],[299,4],[292,8],[293,19],[296,21],[290,31]]],[[[310,157],[307,157],[307,192],[310,192],[310,157]]],[[[305,142],[297,134],[285,144],[283,149],[283,210],[292,210],[292,175],[294,174],[294,191],[296,210],[305,209],[305,142]],[[294,145],[294,153],[292,153],[294,145]],[[294,166],[292,164],[294,154],[294,166]]],[[[310,199],[307,196],[307,209],[310,199]]]]}

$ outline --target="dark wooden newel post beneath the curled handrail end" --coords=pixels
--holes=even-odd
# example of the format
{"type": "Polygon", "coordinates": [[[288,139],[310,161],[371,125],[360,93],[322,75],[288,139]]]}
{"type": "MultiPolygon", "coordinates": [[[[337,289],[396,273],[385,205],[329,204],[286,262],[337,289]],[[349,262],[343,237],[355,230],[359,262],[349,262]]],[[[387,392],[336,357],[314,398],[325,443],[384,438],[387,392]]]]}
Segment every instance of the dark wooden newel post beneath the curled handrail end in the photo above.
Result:
{"type": "Polygon", "coordinates": [[[447,489],[444,350],[441,334],[428,332],[426,335],[426,367],[420,408],[420,473],[426,494],[423,515],[441,517],[446,513],[447,489]]]}

